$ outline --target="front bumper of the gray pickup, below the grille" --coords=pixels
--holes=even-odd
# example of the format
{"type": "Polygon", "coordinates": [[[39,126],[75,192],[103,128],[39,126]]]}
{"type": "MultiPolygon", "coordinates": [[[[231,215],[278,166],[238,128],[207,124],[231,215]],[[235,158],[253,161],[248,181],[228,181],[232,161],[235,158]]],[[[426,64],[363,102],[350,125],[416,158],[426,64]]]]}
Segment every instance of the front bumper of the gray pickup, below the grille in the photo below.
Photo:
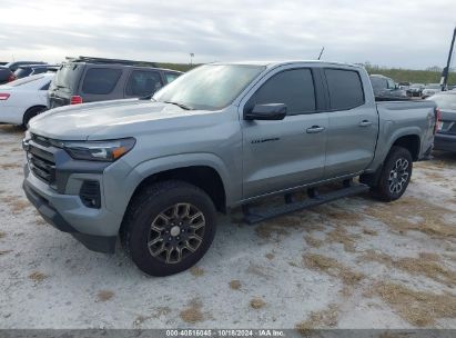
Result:
{"type": "Polygon", "coordinates": [[[62,195],[30,173],[24,167],[23,190],[42,218],[63,232],[71,233],[88,249],[113,254],[119,229],[119,215],[105,208],[85,207],[77,195],[62,195]]]}

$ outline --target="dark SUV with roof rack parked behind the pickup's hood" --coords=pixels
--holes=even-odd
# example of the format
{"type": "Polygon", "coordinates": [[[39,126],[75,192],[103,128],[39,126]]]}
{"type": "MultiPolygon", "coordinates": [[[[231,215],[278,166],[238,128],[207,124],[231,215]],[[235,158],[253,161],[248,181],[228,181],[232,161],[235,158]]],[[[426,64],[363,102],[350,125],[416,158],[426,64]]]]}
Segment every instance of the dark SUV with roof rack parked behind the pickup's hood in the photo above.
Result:
{"type": "Polygon", "coordinates": [[[146,97],[181,74],[156,68],[153,62],[89,57],[68,59],[49,87],[48,108],[146,97]]]}

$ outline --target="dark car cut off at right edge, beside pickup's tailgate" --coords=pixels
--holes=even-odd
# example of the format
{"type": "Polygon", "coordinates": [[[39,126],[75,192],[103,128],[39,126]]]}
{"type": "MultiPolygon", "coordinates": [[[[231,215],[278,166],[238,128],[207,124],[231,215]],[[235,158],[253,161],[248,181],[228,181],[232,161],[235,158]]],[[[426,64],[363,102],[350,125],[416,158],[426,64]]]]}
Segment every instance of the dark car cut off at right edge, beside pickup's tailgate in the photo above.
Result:
{"type": "Polygon", "coordinates": [[[442,91],[427,100],[434,101],[440,109],[434,149],[456,152],[456,91],[442,91]]]}

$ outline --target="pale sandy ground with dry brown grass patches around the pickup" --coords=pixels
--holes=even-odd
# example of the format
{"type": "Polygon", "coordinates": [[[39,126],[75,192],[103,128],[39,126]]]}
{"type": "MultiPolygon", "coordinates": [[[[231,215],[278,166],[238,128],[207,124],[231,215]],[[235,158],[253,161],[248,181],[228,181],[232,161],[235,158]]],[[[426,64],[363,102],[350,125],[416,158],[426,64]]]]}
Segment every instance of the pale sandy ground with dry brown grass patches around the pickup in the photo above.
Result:
{"type": "Polygon", "coordinates": [[[456,328],[456,156],[416,163],[397,202],[359,196],[250,227],[221,217],[197,267],[142,275],[87,250],[21,190],[0,126],[0,328],[456,328]]]}

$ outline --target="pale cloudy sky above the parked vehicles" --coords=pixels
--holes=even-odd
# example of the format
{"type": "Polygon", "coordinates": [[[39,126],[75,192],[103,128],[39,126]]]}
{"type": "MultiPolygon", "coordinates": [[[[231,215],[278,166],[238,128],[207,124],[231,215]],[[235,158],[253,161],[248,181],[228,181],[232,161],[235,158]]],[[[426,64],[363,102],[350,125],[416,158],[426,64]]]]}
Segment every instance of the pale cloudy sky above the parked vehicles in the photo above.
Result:
{"type": "MultiPolygon", "coordinates": [[[[456,0],[0,0],[0,61],[308,60],[444,67],[456,0]]],[[[454,61],[453,66],[456,64],[454,61]]]]}

